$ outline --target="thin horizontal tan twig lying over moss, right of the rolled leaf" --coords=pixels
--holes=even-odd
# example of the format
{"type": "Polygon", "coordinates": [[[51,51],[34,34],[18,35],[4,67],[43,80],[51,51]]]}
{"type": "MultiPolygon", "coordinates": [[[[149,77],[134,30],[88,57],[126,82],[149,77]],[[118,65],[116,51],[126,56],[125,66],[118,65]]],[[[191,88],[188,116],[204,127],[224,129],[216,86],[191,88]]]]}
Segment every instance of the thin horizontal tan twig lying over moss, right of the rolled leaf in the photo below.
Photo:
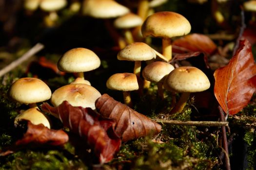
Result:
{"type": "Polygon", "coordinates": [[[188,125],[188,126],[228,126],[227,121],[181,121],[181,120],[164,120],[153,119],[158,123],[172,124],[172,125],[188,125]]]}

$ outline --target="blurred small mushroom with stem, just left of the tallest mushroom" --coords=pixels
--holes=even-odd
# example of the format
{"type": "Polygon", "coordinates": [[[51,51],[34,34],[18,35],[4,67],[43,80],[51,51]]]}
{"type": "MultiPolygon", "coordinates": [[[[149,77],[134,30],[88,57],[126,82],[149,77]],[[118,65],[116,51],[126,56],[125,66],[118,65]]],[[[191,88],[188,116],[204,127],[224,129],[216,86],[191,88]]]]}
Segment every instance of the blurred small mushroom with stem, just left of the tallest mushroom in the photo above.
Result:
{"type": "Polygon", "coordinates": [[[123,16],[120,16],[114,20],[114,26],[118,29],[124,29],[124,37],[128,44],[134,42],[133,35],[131,32],[131,28],[135,28],[137,26],[141,26],[143,20],[136,14],[128,13],[123,16]]]}

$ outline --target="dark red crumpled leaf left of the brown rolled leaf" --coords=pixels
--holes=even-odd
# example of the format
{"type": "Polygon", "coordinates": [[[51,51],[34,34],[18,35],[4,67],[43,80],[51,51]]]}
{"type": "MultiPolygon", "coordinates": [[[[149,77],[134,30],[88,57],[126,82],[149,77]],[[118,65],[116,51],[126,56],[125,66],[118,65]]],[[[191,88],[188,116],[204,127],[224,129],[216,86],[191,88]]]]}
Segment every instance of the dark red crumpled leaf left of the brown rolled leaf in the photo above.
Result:
{"type": "Polygon", "coordinates": [[[41,108],[43,111],[59,115],[63,125],[84,138],[94,149],[100,163],[111,161],[118,152],[121,139],[114,132],[113,120],[102,118],[91,108],[74,107],[67,101],[58,107],[43,103],[41,108]]]}

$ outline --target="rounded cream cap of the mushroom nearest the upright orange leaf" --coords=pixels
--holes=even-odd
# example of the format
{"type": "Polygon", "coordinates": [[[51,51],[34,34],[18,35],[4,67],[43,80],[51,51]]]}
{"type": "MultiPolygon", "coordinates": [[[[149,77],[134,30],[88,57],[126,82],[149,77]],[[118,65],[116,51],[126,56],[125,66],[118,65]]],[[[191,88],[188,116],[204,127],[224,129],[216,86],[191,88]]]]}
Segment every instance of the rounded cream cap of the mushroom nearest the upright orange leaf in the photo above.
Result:
{"type": "Polygon", "coordinates": [[[195,67],[175,68],[166,77],[164,87],[173,92],[200,92],[210,87],[207,76],[195,67]]]}

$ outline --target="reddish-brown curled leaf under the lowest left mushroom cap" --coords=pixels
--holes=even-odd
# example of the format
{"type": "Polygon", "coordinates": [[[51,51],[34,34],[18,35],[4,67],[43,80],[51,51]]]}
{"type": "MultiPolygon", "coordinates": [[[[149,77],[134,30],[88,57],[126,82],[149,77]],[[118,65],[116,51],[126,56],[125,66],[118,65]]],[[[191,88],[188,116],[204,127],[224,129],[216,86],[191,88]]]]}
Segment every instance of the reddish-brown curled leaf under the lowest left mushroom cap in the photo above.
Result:
{"type": "Polygon", "coordinates": [[[68,141],[68,135],[62,130],[54,130],[43,124],[34,125],[27,123],[27,131],[24,136],[16,141],[16,145],[63,145],[68,141]]]}

